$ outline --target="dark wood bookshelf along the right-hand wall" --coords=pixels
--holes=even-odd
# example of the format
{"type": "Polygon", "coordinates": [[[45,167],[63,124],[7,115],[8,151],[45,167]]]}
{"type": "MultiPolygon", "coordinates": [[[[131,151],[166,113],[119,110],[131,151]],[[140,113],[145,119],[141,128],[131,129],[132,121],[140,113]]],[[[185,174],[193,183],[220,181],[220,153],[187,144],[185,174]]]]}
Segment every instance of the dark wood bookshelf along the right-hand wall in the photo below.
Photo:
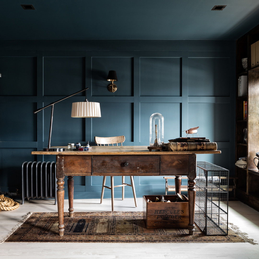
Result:
{"type": "Polygon", "coordinates": [[[254,164],[259,152],[259,59],[251,65],[251,45],[259,41],[259,25],[236,40],[236,160],[247,157],[247,169],[236,168],[236,197],[259,210],[259,171],[254,164]],[[247,71],[242,59],[247,57],[247,71]],[[247,95],[238,96],[238,78],[247,75],[247,95]],[[247,101],[247,119],[243,119],[243,102],[247,101]],[[244,143],[243,129],[247,128],[247,143],[244,143]]]}

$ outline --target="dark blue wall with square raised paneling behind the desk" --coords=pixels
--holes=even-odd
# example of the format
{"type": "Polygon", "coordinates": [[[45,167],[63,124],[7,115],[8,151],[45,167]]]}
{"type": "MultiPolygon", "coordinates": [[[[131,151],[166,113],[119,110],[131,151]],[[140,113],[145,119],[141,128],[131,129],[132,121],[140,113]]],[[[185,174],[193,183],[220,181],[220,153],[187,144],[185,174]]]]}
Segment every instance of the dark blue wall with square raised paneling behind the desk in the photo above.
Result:
{"type": "MultiPolygon", "coordinates": [[[[165,142],[199,126],[199,136],[218,144],[222,154],[198,155],[234,175],[235,45],[231,41],[0,41],[0,186],[21,189],[24,161],[55,161],[33,156],[47,146],[51,108],[33,110],[85,87],[99,102],[101,118],[71,118],[71,103],[55,105],[52,145],[87,141],[94,136],[125,135],[124,145],[149,145],[149,117],[164,116],[165,142]],[[116,70],[118,90],[107,90],[116,70]]],[[[109,178],[109,177],[108,177],[109,178]]],[[[120,183],[121,178],[115,179],[120,183]]],[[[109,180],[107,180],[109,181],[109,180]]],[[[136,194],[164,194],[161,176],[134,177],[136,194]]],[[[75,198],[99,198],[102,177],[75,177],[75,198]]],[[[185,184],[185,183],[184,183],[185,184]]],[[[116,188],[119,189],[119,188],[116,188]]],[[[120,197],[121,191],[115,190],[120,197]]],[[[105,192],[110,197],[110,192],[105,192]]],[[[126,187],[126,197],[132,197],[126,187]]]]}

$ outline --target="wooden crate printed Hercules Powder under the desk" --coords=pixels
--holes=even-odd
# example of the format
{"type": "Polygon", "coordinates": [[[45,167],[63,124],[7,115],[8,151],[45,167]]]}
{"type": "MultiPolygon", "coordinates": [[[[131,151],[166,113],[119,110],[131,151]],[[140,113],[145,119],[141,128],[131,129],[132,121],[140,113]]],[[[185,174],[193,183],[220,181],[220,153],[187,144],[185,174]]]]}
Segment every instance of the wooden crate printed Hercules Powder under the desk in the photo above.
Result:
{"type": "Polygon", "coordinates": [[[176,202],[176,195],[163,195],[171,202],[155,202],[156,197],[161,200],[162,195],[143,196],[143,219],[147,228],[188,228],[189,202],[176,202]],[[147,202],[147,199],[152,202],[147,202]]]}

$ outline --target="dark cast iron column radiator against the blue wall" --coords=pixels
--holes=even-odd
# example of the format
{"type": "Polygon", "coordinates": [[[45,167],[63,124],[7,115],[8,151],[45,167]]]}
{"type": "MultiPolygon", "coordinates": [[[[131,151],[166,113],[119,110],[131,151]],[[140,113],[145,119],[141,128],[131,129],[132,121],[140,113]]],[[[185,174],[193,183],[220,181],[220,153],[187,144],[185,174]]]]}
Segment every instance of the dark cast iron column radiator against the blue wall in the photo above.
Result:
{"type": "Polygon", "coordinates": [[[57,204],[56,163],[24,162],[22,165],[22,204],[24,199],[55,198],[57,204]]]}

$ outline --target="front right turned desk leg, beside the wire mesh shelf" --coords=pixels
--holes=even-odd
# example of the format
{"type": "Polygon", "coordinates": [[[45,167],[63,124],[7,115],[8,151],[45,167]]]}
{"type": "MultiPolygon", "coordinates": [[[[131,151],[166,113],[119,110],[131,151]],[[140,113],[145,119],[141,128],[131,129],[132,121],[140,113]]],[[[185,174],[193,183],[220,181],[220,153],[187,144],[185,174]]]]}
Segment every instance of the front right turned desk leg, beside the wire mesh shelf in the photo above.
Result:
{"type": "Polygon", "coordinates": [[[194,233],[194,211],[195,211],[195,178],[188,178],[188,199],[189,199],[189,235],[194,233]]]}

